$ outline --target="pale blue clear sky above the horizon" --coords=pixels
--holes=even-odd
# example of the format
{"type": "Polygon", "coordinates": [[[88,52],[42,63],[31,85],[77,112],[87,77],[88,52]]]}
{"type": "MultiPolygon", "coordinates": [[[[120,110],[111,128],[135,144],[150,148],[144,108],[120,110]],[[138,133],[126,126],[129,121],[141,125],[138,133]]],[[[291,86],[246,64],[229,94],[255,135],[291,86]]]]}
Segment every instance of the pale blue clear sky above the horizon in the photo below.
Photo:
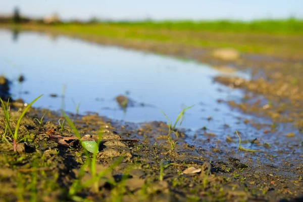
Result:
{"type": "Polygon", "coordinates": [[[234,19],[303,18],[302,0],[2,0],[0,14],[18,6],[23,15],[58,13],[62,19],[234,19]]]}

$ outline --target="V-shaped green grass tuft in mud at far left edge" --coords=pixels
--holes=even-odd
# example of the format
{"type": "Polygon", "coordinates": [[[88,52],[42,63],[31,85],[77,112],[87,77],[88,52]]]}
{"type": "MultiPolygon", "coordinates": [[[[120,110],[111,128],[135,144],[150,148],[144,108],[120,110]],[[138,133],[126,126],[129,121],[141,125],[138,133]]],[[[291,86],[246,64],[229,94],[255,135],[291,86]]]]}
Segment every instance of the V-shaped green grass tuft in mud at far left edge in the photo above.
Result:
{"type": "Polygon", "coordinates": [[[17,121],[17,124],[16,124],[14,132],[13,132],[13,129],[12,129],[11,124],[10,124],[9,100],[7,102],[7,105],[5,106],[3,100],[0,98],[1,106],[2,106],[2,109],[4,111],[4,116],[5,116],[5,121],[6,121],[6,127],[9,129],[9,132],[11,133],[11,135],[13,137],[14,151],[17,151],[18,130],[19,130],[19,127],[20,127],[21,120],[25,116],[25,114],[29,110],[29,108],[32,106],[32,104],[34,104],[42,95],[36,97],[30,104],[28,104],[26,106],[26,108],[24,109],[24,111],[22,112],[22,114],[20,115],[20,117],[19,117],[19,119],[17,121]]]}

